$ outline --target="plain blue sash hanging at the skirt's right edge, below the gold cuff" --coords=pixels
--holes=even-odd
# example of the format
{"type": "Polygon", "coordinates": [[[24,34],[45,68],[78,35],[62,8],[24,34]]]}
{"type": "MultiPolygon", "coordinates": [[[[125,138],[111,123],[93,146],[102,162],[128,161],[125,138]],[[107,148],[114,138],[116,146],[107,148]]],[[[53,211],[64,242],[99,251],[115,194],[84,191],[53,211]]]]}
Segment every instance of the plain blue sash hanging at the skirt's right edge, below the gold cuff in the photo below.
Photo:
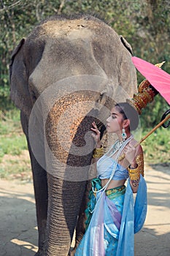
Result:
{"type": "Polygon", "coordinates": [[[142,175],[134,204],[134,196],[128,179],[123,205],[123,215],[117,245],[117,256],[134,256],[134,233],[139,232],[147,215],[147,185],[142,175]]]}

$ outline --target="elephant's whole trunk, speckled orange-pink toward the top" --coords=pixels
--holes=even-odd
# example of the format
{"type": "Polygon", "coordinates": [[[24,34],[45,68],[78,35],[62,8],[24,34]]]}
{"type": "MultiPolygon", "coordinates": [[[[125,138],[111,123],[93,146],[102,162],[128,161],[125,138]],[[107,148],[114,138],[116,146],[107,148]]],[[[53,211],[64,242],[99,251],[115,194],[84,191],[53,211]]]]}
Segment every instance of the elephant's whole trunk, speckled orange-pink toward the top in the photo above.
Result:
{"type": "Polygon", "coordinates": [[[66,99],[62,99],[62,104],[59,100],[50,110],[45,125],[48,144],[45,152],[48,184],[45,252],[49,256],[69,254],[87,180],[93,176],[89,172],[94,147],[90,127],[95,118],[85,116],[89,105],[82,102],[82,106],[82,112],[80,108],[73,111],[73,107],[68,108],[66,99]]]}

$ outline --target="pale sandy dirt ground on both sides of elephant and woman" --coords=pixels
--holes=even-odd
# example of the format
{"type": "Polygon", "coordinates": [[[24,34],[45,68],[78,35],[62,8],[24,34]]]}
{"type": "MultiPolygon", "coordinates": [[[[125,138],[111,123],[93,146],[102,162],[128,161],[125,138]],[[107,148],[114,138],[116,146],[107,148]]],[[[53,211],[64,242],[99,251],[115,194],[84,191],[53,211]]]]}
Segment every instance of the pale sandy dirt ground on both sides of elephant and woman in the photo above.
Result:
{"type": "MultiPolygon", "coordinates": [[[[146,165],[145,179],[147,219],[135,235],[135,256],[168,256],[170,165],[146,165]]],[[[0,255],[33,256],[37,249],[37,229],[32,181],[0,180],[0,219],[0,255]]]]}

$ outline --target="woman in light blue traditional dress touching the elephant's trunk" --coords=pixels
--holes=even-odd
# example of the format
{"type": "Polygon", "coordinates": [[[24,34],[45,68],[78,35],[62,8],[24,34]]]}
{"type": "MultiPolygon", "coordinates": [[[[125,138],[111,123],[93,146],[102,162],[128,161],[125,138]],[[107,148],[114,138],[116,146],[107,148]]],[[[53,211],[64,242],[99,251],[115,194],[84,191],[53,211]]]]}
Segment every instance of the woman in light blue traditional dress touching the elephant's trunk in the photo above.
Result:
{"type": "Polygon", "coordinates": [[[87,230],[76,256],[134,255],[134,233],[142,228],[147,213],[143,151],[131,135],[138,123],[139,116],[131,105],[115,105],[107,118],[107,132],[117,134],[118,140],[104,155],[100,132],[95,122],[92,124],[97,178],[92,180],[87,230]],[[133,193],[137,193],[135,203],[133,193]]]}

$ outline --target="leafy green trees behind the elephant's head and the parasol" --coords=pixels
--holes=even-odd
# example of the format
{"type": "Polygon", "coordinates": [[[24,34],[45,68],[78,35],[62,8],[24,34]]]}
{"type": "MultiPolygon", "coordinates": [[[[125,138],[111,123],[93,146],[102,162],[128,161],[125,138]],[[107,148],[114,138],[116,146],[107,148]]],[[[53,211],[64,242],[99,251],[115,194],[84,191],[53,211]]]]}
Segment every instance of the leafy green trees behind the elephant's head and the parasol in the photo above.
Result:
{"type": "MultiPolygon", "coordinates": [[[[170,2],[169,0],[0,0],[0,105],[10,108],[9,59],[22,37],[50,15],[90,13],[105,20],[117,34],[122,34],[134,49],[134,55],[156,64],[166,61],[163,69],[170,73],[170,2]]],[[[139,75],[139,83],[142,75],[139,75]]],[[[158,122],[156,113],[167,108],[156,97],[142,113],[144,125],[158,122]],[[152,108],[156,113],[150,118],[152,108]],[[147,113],[148,112],[148,113],[147,113]],[[155,121],[153,121],[155,120],[155,121]]],[[[153,111],[152,111],[153,113],[153,111]]]]}

